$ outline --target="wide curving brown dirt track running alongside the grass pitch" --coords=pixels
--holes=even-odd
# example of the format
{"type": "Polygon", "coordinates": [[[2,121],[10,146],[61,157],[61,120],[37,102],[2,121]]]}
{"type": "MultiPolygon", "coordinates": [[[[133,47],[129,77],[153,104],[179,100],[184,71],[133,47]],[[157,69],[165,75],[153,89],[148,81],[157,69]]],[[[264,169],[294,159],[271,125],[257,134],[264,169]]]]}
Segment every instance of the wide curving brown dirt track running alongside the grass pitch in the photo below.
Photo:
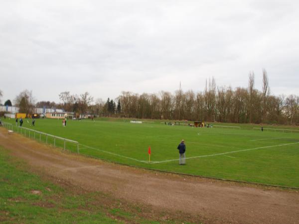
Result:
{"type": "Polygon", "coordinates": [[[36,170],[68,186],[100,191],[168,214],[204,223],[299,224],[299,192],[148,171],[63,153],[51,146],[8,134],[0,145],[36,170]]]}

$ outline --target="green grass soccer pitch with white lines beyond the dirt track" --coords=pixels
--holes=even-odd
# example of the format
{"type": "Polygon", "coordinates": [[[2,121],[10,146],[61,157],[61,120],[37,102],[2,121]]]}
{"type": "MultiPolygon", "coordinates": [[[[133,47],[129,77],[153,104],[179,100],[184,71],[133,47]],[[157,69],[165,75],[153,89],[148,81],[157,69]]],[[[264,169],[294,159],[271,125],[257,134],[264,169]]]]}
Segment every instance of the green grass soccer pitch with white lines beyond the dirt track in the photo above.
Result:
{"type": "MultiPolygon", "coordinates": [[[[130,123],[128,119],[68,120],[66,127],[61,120],[37,119],[32,127],[28,120],[23,126],[78,141],[80,154],[95,158],[205,177],[299,187],[299,131],[262,132],[250,125],[246,129],[194,128],[158,121],[130,123]],[[176,147],[181,139],[186,144],[185,166],[178,165],[176,147]]],[[[15,125],[12,119],[9,121],[15,125]]],[[[56,145],[62,146],[62,142],[56,145]]],[[[75,145],[68,148],[77,151],[75,145]]]]}

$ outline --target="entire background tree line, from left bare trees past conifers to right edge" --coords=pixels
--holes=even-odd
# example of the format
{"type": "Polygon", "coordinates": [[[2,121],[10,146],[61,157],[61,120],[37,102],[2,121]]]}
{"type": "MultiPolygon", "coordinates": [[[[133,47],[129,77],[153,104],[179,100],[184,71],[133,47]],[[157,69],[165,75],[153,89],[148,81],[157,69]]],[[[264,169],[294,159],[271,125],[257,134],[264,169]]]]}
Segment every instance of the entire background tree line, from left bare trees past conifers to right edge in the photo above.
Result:
{"type": "Polygon", "coordinates": [[[59,104],[44,101],[34,104],[32,92],[25,90],[14,102],[22,112],[30,112],[36,106],[99,116],[299,125],[299,96],[271,95],[265,69],[262,80],[262,91],[255,88],[255,74],[250,72],[247,88],[219,87],[212,78],[197,93],[181,89],[141,95],[123,91],[115,100],[108,98],[106,102],[94,101],[88,92],[81,95],[62,92],[59,104]]]}

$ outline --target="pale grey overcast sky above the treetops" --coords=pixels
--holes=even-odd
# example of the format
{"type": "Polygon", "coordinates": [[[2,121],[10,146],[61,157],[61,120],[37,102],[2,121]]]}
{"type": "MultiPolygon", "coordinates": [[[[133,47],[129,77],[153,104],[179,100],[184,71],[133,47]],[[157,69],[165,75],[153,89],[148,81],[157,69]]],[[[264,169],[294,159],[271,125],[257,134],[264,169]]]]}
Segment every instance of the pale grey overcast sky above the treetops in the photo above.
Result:
{"type": "Polygon", "coordinates": [[[298,0],[2,0],[1,103],[217,86],[299,95],[298,0]]]}

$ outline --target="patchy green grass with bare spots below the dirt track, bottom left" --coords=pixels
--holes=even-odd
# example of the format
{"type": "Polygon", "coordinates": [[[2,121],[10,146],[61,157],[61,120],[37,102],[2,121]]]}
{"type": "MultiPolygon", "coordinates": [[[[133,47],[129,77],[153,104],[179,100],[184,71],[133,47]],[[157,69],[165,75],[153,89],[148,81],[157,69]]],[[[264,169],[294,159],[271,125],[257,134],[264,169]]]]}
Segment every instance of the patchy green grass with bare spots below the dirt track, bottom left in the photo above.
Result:
{"type": "Polygon", "coordinates": [[[0,223],[198,223],[40,177],[0,147],[0,223]],[[55,183],[56,182],[56,183],[55,183]],[[187,222],[185,222],[187,221],[187,222]]]}

